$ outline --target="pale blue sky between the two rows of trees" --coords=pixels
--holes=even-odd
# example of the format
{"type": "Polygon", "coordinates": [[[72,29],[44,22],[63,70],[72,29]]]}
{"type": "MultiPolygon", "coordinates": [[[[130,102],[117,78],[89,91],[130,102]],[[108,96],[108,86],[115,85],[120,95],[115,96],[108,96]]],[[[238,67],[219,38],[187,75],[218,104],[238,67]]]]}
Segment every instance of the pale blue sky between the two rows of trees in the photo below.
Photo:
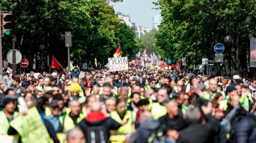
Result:
{"type": "Polygon", "coordinates": [[[123,0],[123,2],[110,2],[115,13],[121,12],[130,15],[131,21],[136,25],[152,28],[152,17],[160,15],[160,10],[153,10],[156,7],[152,2],[156,0],[123,0]]]}

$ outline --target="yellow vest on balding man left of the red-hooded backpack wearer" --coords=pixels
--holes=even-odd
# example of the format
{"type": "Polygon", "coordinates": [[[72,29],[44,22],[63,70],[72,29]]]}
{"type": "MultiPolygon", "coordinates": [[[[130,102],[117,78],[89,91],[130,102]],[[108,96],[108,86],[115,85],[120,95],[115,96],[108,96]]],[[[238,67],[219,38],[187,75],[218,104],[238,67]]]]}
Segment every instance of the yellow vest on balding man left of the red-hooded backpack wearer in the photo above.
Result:
{"type": "MultiPolygon", "coordinates": [[[[79,123],[82,119],[84,119],[84,115],[80,113],[79,118],[76,119],[76,122],[79,123]]],[[[63,127],[64,133],[75,128],[76,126],[71,116],[69,116],[69,113],[66,113],[64,116],[60,117],[60,125],[63,127]]]]}

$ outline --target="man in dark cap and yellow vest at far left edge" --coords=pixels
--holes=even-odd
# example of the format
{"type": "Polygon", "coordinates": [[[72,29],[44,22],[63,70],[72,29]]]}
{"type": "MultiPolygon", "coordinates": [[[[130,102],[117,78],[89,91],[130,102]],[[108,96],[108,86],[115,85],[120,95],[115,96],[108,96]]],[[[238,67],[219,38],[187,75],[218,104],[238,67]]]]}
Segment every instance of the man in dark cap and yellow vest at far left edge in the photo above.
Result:
{"type": "MultiPolygon", "coordinates": [[[[7,134],[7,131],[10,127],[11,120],[14,119],[18,112],[15,112],[16,108],[16,97],[15,96],[6,96],[3,99],[2,105],[3,110],[0,111],[0,133],[7,134]]],[[[14,135],[13,141],[18,142],[19,136],[14,135]]]]}

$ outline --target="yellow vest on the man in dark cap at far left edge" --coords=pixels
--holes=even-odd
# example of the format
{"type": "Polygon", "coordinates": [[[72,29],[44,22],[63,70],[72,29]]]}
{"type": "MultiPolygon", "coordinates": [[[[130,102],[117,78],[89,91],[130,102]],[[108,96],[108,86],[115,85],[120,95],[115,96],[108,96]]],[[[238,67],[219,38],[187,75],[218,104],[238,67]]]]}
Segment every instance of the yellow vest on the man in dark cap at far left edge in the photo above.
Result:
{"type": "MultiPolygon", "coordinates": [[[[14,112],[14,117],[17,116],[19,113],[14,112]]],[[[10,123],[5,115],[4,111],[0,111],[0,133],[6,133],[8,132],[8,129],[10,128],[10,123]]],[[[16,134],[13,136],[13,141],[18,142],[19,141],[19,135],[16,134]]]]}

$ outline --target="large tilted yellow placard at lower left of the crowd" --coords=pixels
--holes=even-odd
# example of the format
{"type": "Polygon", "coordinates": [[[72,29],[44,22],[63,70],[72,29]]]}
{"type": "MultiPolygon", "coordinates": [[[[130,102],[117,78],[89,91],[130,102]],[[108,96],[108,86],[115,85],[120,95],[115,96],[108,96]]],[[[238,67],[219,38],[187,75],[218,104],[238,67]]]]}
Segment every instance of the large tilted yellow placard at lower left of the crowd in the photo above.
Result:
{"type": "Polygon", "coordinates": [[[26,143],[48,143],[49,134],[36,107],[28,109],[27,115],[20,115],[10,122],[26,143]]]}

